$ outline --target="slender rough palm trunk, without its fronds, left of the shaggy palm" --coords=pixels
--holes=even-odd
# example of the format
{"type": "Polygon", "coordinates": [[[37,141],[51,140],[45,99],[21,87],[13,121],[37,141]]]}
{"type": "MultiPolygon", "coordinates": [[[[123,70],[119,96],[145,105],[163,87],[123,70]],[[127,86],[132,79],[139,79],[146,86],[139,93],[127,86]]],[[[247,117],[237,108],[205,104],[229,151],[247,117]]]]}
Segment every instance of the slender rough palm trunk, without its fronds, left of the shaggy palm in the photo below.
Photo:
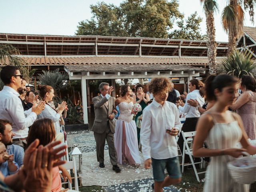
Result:
{"type": "Polygon", "coordinates": [[[215,41],[215,26],[214,26],[214,16],[213,12],[207,12],[205,10],[206,15],[206,26],[207,26],[207,34],[208,34],[208,42],[207,42],[207,55],[209,59],[209,72],[210,74],[217,72],[217,63],[216,63],[216,41],[215,41]]]}

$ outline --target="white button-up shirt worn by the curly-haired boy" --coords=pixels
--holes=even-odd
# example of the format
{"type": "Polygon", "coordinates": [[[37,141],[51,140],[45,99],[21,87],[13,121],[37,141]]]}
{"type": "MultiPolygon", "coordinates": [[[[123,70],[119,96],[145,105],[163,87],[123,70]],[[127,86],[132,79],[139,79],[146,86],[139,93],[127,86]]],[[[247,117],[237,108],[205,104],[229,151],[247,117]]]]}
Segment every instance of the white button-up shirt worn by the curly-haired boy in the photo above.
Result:
{"type": "Polygon", "coordinates": [[[162,106],[156,100],[143,110],[140,129],[144,159],[167,159],[178,156],[176,138],[166,129],[181,130],[179,110],[175,104],[165,101],[162,106]]]}

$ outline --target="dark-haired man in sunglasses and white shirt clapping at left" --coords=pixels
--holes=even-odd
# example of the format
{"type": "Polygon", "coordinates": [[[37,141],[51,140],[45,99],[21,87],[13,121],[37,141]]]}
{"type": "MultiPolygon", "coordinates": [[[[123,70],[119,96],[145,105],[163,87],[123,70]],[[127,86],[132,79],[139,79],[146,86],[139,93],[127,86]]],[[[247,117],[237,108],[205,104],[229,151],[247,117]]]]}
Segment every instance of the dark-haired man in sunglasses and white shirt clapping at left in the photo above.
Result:
{"type": "Polygon", "coordinates": [[[33,104],[30,110],[24,112],[22,102],[18,98],[17,89],[22,84],[22,74],[16,66],[5,66],[0,72],[2,82],[5,84],[0,92],[0,118],[12,123],[14,132],[13,144],[26,146],[28,127],[31,126],[36,117],[44,109],[45,102],[33,104]],[[27,117],[25,117],[25,114],[27,117]]]}

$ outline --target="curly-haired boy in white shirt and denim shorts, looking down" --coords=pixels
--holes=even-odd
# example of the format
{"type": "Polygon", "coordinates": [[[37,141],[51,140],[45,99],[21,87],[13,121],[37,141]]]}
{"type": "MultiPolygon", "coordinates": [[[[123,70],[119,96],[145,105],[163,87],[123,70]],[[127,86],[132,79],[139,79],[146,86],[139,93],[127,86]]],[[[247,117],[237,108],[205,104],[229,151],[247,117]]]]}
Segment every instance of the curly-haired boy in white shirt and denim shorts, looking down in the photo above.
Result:
{"type": "Polygon", "coordinates": [[[148,89],[154,95],[152,104],[143,110],[140,138],[145,168],[152,164],[155,192],[181,182],[180,162],[175,136],[181,130],[179,111],[166,101],[170,90],[168,78],[153,78],[148,89]],[[164,170],[168,176],[165,177],[164,170]]]}

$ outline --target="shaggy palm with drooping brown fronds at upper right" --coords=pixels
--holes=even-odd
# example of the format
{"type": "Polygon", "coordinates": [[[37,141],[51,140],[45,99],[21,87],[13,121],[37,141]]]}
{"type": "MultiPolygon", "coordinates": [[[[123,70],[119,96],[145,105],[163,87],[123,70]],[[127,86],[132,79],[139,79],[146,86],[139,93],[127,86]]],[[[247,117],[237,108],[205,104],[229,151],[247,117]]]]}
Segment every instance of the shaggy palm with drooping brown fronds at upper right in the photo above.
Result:
{"type": "Polygon", "coordinates": [[[222,26],[228,33],[228,55],[236,49],[236,40],[243,34],[244,10],[249,9],[250,20],[254,23],[256,0],[229,0],[222,12],[222,26]],[[243,8],[244,10],[243,10],[243,8]]]}

